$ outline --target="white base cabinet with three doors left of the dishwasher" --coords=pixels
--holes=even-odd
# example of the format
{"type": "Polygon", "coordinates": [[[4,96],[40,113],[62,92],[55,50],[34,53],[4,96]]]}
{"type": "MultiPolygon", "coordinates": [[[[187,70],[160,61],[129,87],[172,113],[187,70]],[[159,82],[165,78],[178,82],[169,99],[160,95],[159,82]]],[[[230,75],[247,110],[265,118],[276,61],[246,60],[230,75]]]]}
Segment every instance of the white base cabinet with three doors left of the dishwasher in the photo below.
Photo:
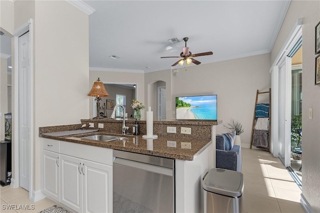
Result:
{"type": "Polygon", "coordinates": [[[43,139],[42,191],[76,212],[112,212],[112,149],[43,139]]]}

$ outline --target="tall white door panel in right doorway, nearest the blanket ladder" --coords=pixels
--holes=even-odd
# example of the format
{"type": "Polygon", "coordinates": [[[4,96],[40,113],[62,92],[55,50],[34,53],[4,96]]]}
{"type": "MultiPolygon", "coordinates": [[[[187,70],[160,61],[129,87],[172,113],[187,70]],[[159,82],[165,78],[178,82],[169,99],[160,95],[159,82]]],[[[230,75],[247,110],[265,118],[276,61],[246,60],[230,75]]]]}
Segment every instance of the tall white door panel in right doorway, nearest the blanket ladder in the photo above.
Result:
{"type": "Polygon", "coordinates": [[[278,67],[278,156],[287,167],[291,151],[291,58],[284,56],[278,67]]]}

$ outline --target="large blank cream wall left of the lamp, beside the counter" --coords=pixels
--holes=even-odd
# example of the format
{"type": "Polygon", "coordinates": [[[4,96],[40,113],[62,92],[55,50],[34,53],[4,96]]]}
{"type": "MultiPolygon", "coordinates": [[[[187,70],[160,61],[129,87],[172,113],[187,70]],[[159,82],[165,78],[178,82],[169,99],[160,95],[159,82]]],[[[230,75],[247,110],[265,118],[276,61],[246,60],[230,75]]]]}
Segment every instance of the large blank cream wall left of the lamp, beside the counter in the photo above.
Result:
{"type": "MultiPolygon", "coordinates": [[[[34,23],[31,71],[35,138],[31,141],[34,147],[31,189],[38,191],[41,170],[38,127],[79,123],[79,118],[89,114],[88,15],[66,1],[14,1],[14,28],[29,18],[34,23]]],[[[12,85],[12,89],[15,87],[12,85]]]]}

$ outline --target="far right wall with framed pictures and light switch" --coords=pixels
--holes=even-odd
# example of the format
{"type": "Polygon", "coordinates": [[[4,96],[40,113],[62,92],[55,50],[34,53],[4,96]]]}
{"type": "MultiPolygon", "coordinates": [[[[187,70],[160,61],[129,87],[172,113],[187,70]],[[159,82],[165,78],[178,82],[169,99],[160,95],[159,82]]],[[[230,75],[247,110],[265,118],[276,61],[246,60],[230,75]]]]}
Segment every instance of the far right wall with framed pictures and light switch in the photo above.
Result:
{"type": "Polygon", "coordinates": [[[320,212],[320,85],[314,85],[314,27],[320,20],[320,1],[291,1],[275,45],[271,51],[271,63],[284,45],[297,18],[302,25],[302,194],[314,212],[320,212]],[[308,110],[312,108],[312,119],[308,110]]]}

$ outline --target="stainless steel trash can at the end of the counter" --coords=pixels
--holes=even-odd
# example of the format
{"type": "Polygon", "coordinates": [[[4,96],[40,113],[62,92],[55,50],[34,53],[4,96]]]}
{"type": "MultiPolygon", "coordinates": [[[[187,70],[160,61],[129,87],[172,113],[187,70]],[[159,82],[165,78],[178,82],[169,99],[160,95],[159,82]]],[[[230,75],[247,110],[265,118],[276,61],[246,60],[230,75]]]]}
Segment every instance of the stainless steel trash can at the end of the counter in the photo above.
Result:
{"type": "Polygon", "coordinates": [[[243,174],[222,168],[211,169],[203,179],[204,212],[243,212],[243,174]]]}

